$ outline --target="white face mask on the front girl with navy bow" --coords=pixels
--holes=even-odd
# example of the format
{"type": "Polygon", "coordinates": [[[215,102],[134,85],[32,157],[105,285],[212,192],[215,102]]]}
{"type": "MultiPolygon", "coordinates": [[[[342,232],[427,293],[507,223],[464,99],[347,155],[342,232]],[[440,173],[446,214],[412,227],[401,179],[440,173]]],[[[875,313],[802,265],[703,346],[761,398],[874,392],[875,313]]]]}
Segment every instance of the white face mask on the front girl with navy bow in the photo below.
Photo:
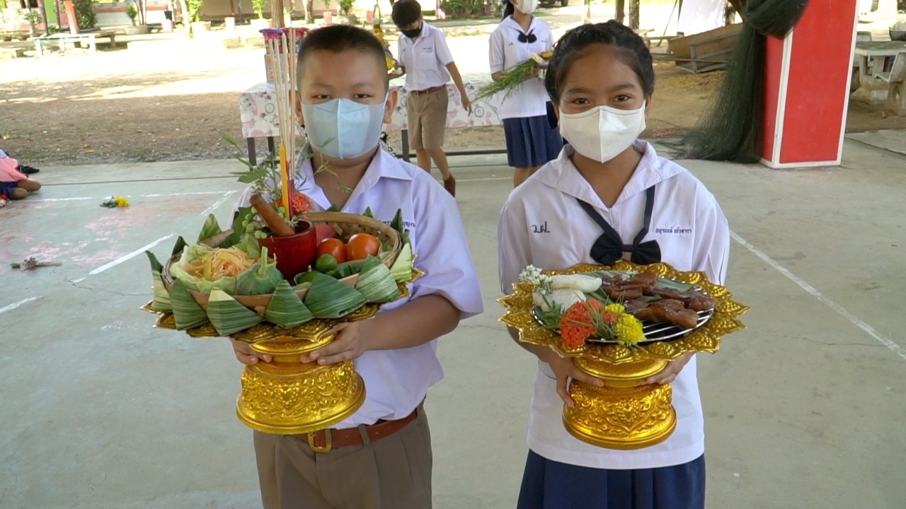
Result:
{"type": "Polygon", "coordinates": [[[617,157],[645,130],[645,105],[638,110],[598,106],[582,113],[560,112],[560,134],[576,152],[605,163],[617,157]]]}

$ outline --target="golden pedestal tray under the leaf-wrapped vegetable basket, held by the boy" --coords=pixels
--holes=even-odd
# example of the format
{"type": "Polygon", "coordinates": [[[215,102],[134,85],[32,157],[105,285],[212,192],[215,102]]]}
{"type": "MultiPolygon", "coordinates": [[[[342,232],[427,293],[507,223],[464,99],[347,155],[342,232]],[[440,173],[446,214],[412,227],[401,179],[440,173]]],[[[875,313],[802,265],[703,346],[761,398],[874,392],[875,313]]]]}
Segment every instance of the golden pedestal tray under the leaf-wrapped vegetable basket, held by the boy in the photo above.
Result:
{"type": "MultiPolygon", "coordinates": [[[[400,299],[409,296],[408,284],[424,275],[412,268],[412,278],[400,283],[400,299]]],[[[159,314],[156,327],[176,330],[173,314],[155,312],[150,303],[142,310],[159,314]]],[[[365,384],[352,360],[321,365],[303,363],[301,356],[319,349],[336,337],[333,329],[344,322],[373,318],[380,304],[368,303],[338,319],[315,319],[292,329],[260,322],[230,335],[249,343],[252,350],[270,355],[271,362],[246,365],[242,391],[236,400],[236,416],[247,427],[275,435],[303,435],[332,427],[349,418],[365,402],[365,384]]],[[[206,323],[186,331],[194,338],[219,337],[206,323]]]]}

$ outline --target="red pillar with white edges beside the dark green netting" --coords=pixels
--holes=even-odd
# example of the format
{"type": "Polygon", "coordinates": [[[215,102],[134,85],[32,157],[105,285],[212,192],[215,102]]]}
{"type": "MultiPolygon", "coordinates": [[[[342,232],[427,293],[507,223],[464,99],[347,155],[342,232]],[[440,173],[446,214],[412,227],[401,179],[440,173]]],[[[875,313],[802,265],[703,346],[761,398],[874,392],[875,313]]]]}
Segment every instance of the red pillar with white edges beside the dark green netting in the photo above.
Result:
{"type": "Polygon", "coordinates": [[[858,0],[811,0],[793,32],[767,38],[766,166],[840,164],[857,7],[858,0]]]}

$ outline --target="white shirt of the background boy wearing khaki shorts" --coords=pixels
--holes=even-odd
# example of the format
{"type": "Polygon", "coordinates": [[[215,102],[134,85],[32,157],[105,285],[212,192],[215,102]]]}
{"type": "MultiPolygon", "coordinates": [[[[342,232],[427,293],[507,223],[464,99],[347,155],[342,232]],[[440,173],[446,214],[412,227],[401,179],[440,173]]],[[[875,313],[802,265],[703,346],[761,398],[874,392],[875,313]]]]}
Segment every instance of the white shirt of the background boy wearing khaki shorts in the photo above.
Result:
{"type": "Polygon", "coordinates": [[[424,91],[446,85],[450,79],[447,64],[453,55],[447,36],[436,26],[421,22],[421,34],[414,40],[400,33],[397,41],[400,65],[406,68],[406,90],[424,91]]]}

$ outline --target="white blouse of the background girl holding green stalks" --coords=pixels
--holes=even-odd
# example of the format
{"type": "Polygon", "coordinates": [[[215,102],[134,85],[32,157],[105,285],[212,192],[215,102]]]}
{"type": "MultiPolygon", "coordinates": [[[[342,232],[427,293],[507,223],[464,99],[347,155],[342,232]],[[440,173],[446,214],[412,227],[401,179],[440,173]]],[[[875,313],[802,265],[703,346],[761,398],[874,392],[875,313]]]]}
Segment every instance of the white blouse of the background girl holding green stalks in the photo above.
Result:
{"type": "MultiPolygon", "coordinates": [[[[528,26],[525,34],[534,34],[534,43],[520,43],[519,34],[523,34],[522,27],[516,23],[513,16],[497,25],[490,39],[490,66],[491,73],[509,70],[519,62],[531,58],[532,53],[542,53],[554,49],[554,35],[551,27],[535,16],[528,26]]],[[[507,97],[500,107],[501,119],[519,119],[547,115],[545,103],[550,101],[545,90],[545,82],[541,78],[529,78],[516,93],[507,97]]]]}

